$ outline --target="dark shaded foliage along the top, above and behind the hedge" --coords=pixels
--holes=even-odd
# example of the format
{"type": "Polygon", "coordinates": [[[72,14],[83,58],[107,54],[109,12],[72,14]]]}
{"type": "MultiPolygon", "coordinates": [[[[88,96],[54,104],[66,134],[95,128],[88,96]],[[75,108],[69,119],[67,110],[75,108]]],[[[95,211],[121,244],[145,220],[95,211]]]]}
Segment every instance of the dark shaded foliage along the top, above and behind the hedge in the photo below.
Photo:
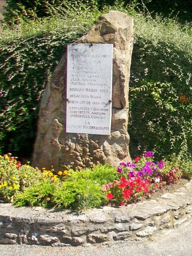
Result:
{"type": "MultiPolygon", "coordinates": [[[[89,4],[88,0],[6,0],[8,3],[5,14],[5,20],[11,23],[18,23],[24,17],[35,19],[36,17],[50,16],[54,14],[54,8],[62,7],[68,9],[69,4],[74,7],[79,2],[89,4]]],[[[192,21],[192,0],[95,0],[98,8],[101,10],[105,5],[117,5],[119,2],[124,7],[133,4],[139,9],[145,6],[152,15],[156,13],[162,16],[178,16],[181,23],[192,21]]]]}

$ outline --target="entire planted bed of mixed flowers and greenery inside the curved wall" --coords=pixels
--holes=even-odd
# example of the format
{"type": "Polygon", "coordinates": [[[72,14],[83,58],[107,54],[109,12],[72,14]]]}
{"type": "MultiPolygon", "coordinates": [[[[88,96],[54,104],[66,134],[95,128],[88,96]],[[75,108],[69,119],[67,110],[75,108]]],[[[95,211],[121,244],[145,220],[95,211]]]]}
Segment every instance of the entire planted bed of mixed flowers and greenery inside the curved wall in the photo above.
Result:
{"type": "Polygon", "coordinates": [[[147,151],[132,162],[96,165],[82,171],[34,169],[11,155],[0,156],[0,199],[15,206],[42,206],[81,211],[91,207],[125,206],[165,185],[191,177],[190,163],[156,161],[147,151]],[[187,168],[188,166],[188,168],[187,168]],[[182,170],[182,171],[181,171],[182,170]]]}

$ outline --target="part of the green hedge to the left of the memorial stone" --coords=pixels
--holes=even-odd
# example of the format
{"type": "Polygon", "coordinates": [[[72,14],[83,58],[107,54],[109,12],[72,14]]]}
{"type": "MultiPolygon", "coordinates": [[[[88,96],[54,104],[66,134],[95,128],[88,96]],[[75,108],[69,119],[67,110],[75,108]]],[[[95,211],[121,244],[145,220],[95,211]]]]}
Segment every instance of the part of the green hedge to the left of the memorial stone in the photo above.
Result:
{"type": "Polygon", "coordinates": [[[87,32],[96,17],[97,11],[84,10],[82,17],[71,10],[65,17],[58,14],[51,21],[0,28],[0,152],[30,155],[45,85],[66,44],[87,32]]]}

